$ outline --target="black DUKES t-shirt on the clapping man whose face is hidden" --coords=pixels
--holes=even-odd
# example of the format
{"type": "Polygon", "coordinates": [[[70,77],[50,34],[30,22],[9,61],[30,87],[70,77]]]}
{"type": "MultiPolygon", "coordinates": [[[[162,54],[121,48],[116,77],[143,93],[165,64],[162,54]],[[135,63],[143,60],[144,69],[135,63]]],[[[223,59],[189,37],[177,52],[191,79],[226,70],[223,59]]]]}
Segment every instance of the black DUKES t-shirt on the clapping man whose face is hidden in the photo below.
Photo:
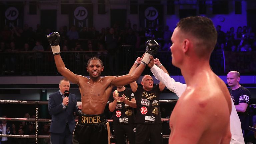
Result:
{"type": "MultiPolygon", "coordinates": [[[[113,92],[112,92],[113,93],[113,92]]],[[[125,88],[124,91],[118,92],[118,96],[125,96],[125,99],[131,101],[134,98],[134,94],[130,88],[125,88]]],[[[113,102],[113,96],[110,96],[109,102],[113,102]]],[[[134,123],[134,111],[129,105],[117,101],[116,109],[113,111],[113,124],[133,124],[134,123]]]]}

